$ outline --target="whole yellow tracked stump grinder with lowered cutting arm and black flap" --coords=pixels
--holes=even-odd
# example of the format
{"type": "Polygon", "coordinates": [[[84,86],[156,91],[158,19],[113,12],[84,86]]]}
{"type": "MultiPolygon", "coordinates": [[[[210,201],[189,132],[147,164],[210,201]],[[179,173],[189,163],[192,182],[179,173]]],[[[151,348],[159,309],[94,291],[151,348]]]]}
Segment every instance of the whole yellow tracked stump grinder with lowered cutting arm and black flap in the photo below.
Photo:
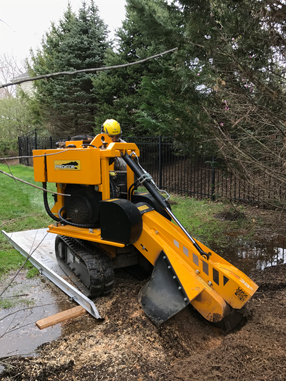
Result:
{"type": "Polygon", "coordinates": [[[186,231],[141,167],[136,144],[99,134],[33,154],[35,181],[56,183],[53,207],[46,192],[44,204],[57,260],[82,292],[108,295],[114,269],[139,265],[150,271],[139,302],[157,326],[189,304],[226,329],[238,324],[257,285],[186,231]],[[117,158],[126,171],[114,171],[117,158]]]}

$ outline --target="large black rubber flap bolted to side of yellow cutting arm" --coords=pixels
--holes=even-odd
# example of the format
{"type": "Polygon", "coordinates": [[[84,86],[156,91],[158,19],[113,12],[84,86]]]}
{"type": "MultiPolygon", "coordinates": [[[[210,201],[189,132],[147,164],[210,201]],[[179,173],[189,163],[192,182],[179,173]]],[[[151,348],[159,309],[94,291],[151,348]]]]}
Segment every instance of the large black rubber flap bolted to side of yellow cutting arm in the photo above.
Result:
{"type": "Polygon", "coordinates": [[[151,279],[139,293],[139,302],[145,314],[156,326],[189,304],[180,280],[163,251],[155,263],[151,279]]]}

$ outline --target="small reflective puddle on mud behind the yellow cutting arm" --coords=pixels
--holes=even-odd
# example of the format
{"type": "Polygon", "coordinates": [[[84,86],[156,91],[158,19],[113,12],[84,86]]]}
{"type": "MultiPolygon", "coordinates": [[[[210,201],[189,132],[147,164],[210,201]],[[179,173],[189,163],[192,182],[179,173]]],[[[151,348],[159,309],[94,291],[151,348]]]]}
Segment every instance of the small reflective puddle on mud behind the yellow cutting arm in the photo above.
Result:
{"type": "Polygon", "coordinates": [[[251,242],[229,235],[229,246],[220,254],[231,264],[249,275],[252,270],[286,263],[286,237],[278,235],[272,239],[256,238],[251,242]]]}

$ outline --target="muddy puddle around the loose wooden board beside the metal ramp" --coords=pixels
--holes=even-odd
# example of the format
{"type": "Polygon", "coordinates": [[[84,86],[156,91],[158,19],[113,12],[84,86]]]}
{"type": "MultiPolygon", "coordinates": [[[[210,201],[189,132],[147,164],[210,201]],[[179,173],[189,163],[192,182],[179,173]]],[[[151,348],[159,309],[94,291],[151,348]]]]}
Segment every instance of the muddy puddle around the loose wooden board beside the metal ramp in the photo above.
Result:
{"type": "MultiPolygon", "coordinates": [[[[25,276],[25,273],[19,274],[3,295],[4,299],[16,299],[18,303],[11,308],[0,308],[0,358],[35,356],[38,346],[71,332],[87,331],[95,324],[95,320],[86,314],[81,321],[72,319],[40,330],[35,324],[38,320],[73,308],[76,304],[50,281],[42,277],[26,279],[25,276]],[[20,304],[19,300],[22,300],[20,304]]],[[[0,289],[8,282],[9,278],[2,282],[0,289]]]]}

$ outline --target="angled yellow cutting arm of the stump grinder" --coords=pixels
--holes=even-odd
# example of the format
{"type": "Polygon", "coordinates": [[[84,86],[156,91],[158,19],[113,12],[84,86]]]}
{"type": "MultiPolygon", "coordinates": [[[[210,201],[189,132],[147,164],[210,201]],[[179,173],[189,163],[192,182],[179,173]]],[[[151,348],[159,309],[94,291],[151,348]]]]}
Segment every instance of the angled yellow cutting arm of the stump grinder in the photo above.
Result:
{"type": "MultiPolygon", "coordinates": [[[[150,298],[163,300],[166,293],[163,286],[167,283],[168,288],[171,287],[177,294],[176,303],[181,301],[179,307],[174,306],[174,311],[170,300],[166,300],[168,311],[164,305],[161,312],[157,308],[154,314],[147,307],[148,312],[145,312],[158,325],[166,320],[166,314],[172,316],[173,312],[178,312],[177,308],[185,307],[188,303],[205,319],[219,322],[230,313],[229,306],[241,309],[257,290],[257,285],[244,273],[200,242],[196,243],[210,253],[209,259],[202,257],[172,222],[155,211],[143,215],[143,232],[134,246],[155,266],[155,275],[157,267],[160,267],[158,271],[162,279],[161,287],[153,279],[150,280],[141,292],[141,302],[144,304],[150,298]]],[[[157,305],[160,306],[160,303],[157,305]]]]}

